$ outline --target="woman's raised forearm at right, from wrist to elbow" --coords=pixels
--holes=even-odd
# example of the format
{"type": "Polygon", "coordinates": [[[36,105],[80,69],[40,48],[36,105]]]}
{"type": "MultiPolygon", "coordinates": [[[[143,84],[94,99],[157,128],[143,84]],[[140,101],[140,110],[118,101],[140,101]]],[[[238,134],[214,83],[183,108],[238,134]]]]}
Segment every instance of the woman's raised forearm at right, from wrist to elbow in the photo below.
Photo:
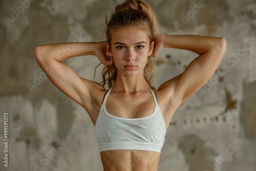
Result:
{"type": "Polygon", "coordinates": [[[225,46],[225,40],[212,36],[166,35],[163,46],[164,48],[185,49],[201,55],[211,50],[221,50],[225,46]]]}

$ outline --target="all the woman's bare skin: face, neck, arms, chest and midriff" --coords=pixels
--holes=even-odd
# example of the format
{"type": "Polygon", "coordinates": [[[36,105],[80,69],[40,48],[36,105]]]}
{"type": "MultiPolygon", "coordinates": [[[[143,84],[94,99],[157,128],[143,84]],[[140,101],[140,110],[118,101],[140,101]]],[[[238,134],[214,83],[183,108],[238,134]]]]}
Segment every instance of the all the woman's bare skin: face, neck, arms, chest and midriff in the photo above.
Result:
{"type": "MultiPolygon", "coordinates": [[[[147,34],[138,28],[117,30],[111,45],[83,42],[75,45],[75,51],[62,53],[62,49],[72,44],[38,46],[35,58],[55,86],[83,106],[94,125],[106,90],[97,82],[79,77],[61,63],[62,60],[95,55],[104,65],[115,62],[118,75],[106,102],[106,110],[117,117],[141,118],[150,115],[155,107],[150,88],[143,78],[147,57],[156,56],[163,48],[186,49],[199,54],[184,73],[167,80],[155,92],[166,128],[178,106],[214,74],[226,49],[226,42],[220,37],[157,34],[150,42],[147,34]],[[52,72],[47,70],[49,66],[54,66],[52,72]]],[[[160,158],[156,152],[133,150],[104,151],[100,155],[105,171],[156,171],[160,158]]]]}

